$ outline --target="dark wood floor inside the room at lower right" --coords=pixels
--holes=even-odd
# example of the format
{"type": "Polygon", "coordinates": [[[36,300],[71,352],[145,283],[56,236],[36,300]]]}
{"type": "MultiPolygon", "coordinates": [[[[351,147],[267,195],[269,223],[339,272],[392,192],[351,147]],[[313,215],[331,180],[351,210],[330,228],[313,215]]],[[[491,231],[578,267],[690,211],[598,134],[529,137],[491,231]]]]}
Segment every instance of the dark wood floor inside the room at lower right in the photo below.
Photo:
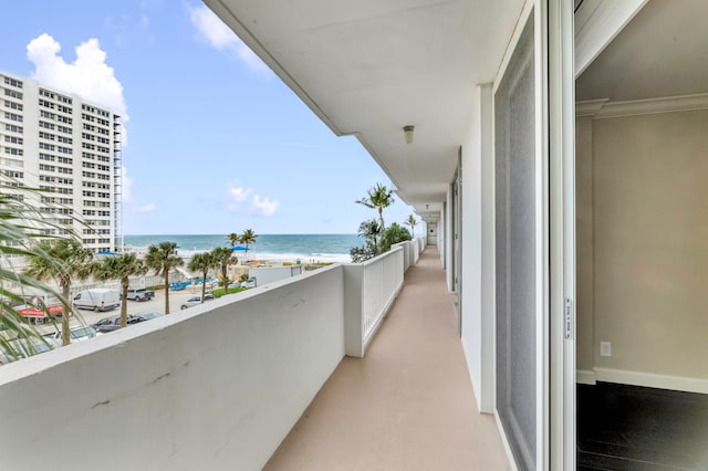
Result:
{"type": "Polygon", "coordinates": [[[577,386],[577,470],[708,470],[708,395],[577,386]]]}

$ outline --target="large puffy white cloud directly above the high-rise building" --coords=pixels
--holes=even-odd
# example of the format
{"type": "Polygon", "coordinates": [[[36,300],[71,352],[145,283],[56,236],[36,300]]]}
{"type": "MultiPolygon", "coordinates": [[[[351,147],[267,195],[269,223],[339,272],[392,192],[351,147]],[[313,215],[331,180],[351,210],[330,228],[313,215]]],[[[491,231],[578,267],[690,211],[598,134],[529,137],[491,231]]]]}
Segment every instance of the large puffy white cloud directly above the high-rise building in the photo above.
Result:
{"type": "Polygon", "coordinates": [[[27,56],[34,63],[38,81],[67,93],[75,93],[97,105],[110,107],[128,121],[123,85],[113,67],[106,64],[106,53],[97,39],[90,39],[75,49],[76,60],[67,63],[59,55],[61,44],[46,33],[27,45],[27,56]]]}

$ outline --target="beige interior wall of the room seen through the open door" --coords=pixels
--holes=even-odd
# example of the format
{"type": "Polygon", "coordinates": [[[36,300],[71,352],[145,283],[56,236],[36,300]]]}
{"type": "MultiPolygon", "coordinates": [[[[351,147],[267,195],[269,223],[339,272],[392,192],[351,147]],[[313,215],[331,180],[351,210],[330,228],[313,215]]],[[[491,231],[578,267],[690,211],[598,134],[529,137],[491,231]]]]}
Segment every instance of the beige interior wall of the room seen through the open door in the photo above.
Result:
{"type": "Polygon", "coordinates": [[[708,111],[592,123],[592,208],[579,199],[577,214],[592,213],[579,328],[592,325],[593,342],[579,342],[577,358],[583,368],[592,358],[598,380],[708,393],[706,129],[708,111]]]}

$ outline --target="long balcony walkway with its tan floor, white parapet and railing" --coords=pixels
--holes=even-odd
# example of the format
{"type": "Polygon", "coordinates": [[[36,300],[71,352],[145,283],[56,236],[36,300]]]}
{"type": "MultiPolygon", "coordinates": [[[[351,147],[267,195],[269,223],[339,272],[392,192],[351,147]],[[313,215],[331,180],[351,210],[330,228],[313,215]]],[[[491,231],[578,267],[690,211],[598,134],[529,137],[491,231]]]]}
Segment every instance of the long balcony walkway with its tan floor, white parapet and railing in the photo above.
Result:
{"type": "Polygon", "coordinates": [[[506,469],[437,251],[402,283],[417,255],[410,243],[1,367],[3,465],[506,469]]]}

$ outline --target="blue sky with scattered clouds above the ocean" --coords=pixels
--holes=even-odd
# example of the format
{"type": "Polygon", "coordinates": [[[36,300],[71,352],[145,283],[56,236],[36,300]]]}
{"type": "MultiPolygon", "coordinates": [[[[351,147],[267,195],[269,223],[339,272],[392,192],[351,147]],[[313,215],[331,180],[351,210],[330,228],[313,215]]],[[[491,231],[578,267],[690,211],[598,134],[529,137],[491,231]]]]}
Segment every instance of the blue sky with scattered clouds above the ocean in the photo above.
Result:
{"type": "MultiPolygon", "coordinates": [[[[391,181],[200,1],[12,2],[0,70],[123,114],[126,234],[355,233],[391,181]]],[[[396,198],[397,199],[397,198],[396,198]]],[[[385,210],[402,223],[412,209],[385,210]]]]}

